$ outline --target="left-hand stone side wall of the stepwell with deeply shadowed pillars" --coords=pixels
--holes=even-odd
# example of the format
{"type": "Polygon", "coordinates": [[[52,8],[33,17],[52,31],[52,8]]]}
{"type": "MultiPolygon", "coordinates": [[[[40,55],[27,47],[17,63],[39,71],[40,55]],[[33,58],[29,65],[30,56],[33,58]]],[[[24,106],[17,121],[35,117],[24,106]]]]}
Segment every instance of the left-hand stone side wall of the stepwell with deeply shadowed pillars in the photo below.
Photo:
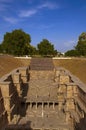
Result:
{"type": "Polygon", "coordinates": [[[0,130],[19,118],[24,83],[29,79],[27,67],[18,68],[0,79],[0,130]]]}

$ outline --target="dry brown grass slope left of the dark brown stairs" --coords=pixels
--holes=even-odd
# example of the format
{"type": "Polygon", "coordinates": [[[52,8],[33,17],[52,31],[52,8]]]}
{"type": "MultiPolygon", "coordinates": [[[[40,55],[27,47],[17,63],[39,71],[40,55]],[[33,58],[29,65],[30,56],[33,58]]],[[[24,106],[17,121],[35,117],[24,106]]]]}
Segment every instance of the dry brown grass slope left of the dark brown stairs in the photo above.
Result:
{"type": "Polygon", "coordinates": [[[30,60],[15,59],[14,57],[11,56],[0,56],[0,77],[9,73],[15,68],[21,66],[28,66],[29,63],[30,60]]]}

